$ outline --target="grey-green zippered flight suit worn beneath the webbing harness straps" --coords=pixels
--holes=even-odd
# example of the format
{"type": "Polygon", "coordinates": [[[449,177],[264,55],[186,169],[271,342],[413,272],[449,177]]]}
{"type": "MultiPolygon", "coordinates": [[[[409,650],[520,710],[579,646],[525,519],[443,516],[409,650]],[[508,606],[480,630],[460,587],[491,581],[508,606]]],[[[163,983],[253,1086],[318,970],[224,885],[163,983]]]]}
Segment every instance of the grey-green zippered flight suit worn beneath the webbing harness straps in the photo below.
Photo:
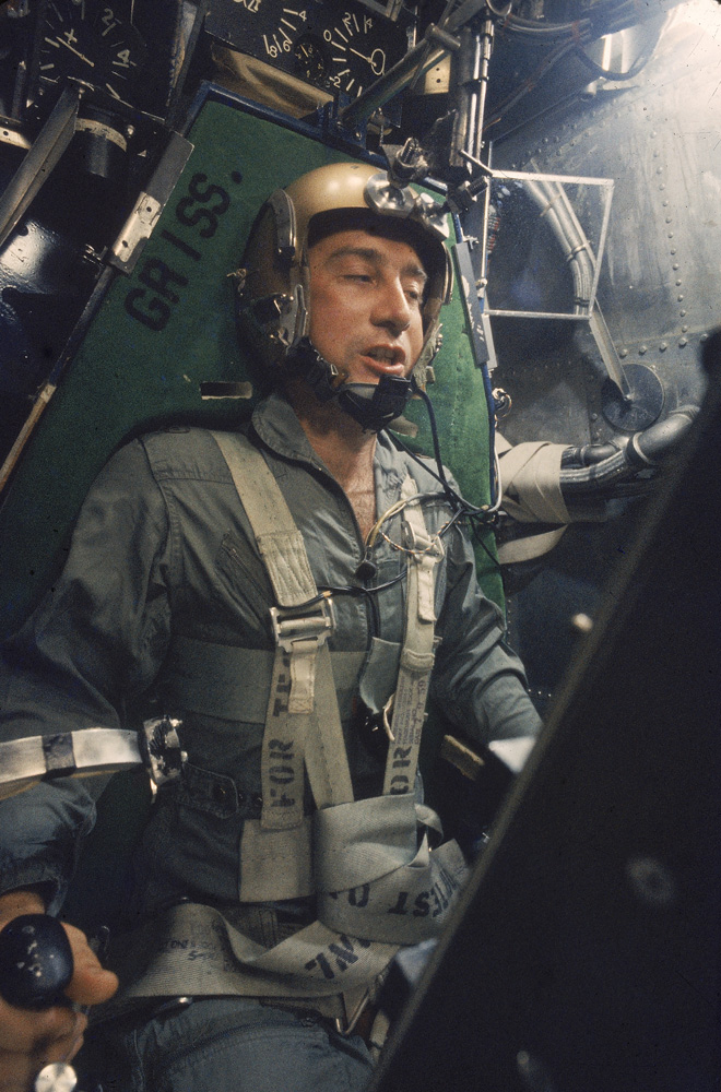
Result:
{"type": "MultiPolygon", "coordinates": [[[[303,535],[318,587],[346,590],[333,595],[331,652],[363,653],[375,645],[387,648],[392,660],[404,619],[405,581],[395,579],[405,567],[394,545],[402,541],[401,518],[383,524],[385,536],[370,556],[373,574],[364,582],[357,575],[364,544],[353,510],[310,448],[291,405],[271,395],[253,413],[248,435],[265,456],[303,535]],[[386,584],[377,595],[369,594],[386,584]]],[[[407,473],[421,494],[433,495],[424,500],[423,513],[428,532],[438,532],[452,513],[437,480],[381,434],[375,458],[379,515],[399,499],[407,473]]],[[[458,525],[442,543],[435,592],[440,642],[432,697],[459,729],[482,744],[533,735],[540,722],[522,666],[504,642],[500,612],[478,590],[471,545],[458,525]]],[[[2,739],[127,727],[151,698],[182,721],[188,767],[180,784],[161,790],[152,809],[123,907],[130,922],[179,898],[237,905],[243,824],[258,819],[262,807],[267,691],[258,679],[228,678],[215,665],[227,648],[273,650],[272,602],[248,520],[212,436],[203,429],[170,428],[132,441],[109,460],[85,500],[62,574],[4,649],[2,739]],[[194,666],[189,649],[202,651],[194,666]]],[[[339,702],[354,793],[356,798],[375,796],[382,791],[383,761],[353,727],[355,681],[343,686],[339,702]]],[[[392,680],[389,686],[392,690],[392,680]]],[[[51,912],[59,910],[102,785],[102,779],[67,779],[0,803],[0,891],[43,883],[51,912]]],[[[307,808],[312,808],[309,795],[307,808]]],[[[299,922],[312,918],[310,905],[280,910],[299,922]]],[[[316,1089],[363,1087],[368,1063],[362,1045],[344,1041],[341,1047],[333,1036],[322,1021],[258,1001],[197,1001],[180,1014],[162,1017],[157,1026],[128,1032],[123,1042],[131,1044],[130,1055],[138,1054],[142,1042],[146,1058],[155,1059],[155,1076],[152,1083],[139,1076],[150,1063],[138,1056],[134,1083],[128,1078],[117,1087],[153,1092],[305,1089],[299,1061],[297,1069],[291,1060],[283,1068],[285,1059],[302,1052],[300,1040],[306,1042],[304,1057],[327,1055],[329,1073],[335,1072],[323,1083],[322,1067],[308,1061],[308,1073],[317,1070],[316,1089]],[[184,1041],[188,1049],[197,1045],[203,1057],[223,1058],[226,1083],[214,1071],[208,1083],[200,1076],[188,1083],[187,1075],[196,1069],[186,1058],[184,1077],[184,1067],[176,1064],[184,1041]],[[245,1059],[243,1065],[233,1061],[235,1056],[245,1059]],[[268,1068],[273,1058],[277,1072],[268,1068]],[[350,1067],[357,1080],[340,1077],[339,1066],[343,1073],[350,1067]],[[177,1079],[161,1080],[161,1071],[176,1069],[177,1079]],[[294,1078],[287,1077],[288,1069],[294,1078]]],[[[103,1049],[109,1058],[110,1047],[103,1049]]],[[[114,1087],[108,1084],[106,1092],[114,1087]]]]}

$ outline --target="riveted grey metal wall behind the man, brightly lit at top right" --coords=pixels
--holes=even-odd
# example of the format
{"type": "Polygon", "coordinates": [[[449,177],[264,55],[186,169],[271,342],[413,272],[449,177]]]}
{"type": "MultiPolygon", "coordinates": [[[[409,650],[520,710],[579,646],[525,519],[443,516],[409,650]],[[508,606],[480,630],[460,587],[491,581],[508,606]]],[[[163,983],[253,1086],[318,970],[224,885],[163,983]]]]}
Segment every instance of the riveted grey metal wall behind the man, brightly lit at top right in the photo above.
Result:
{"type": "MultiPolygon", "coordinates": [[[[554,72],[506,123],[494,166],[614,180],[598,298],[622,364],[661,381],[663,417],[700,402],[700,352],[721,324],[721,9],[682,4],[643,33],[651,57],[628,81],[589,83],[577,60],[554,72]]],[[[604,416],[606,372],[588,327],[492,324],[512,442],[626,435],[604,416]]],[[[542,566],[510,574],[511,637],[542,701],[577,641],[571,618],[613,595],[605,581],[638,509],[614,502],[607,523],[572,526],[542,566]]]]}

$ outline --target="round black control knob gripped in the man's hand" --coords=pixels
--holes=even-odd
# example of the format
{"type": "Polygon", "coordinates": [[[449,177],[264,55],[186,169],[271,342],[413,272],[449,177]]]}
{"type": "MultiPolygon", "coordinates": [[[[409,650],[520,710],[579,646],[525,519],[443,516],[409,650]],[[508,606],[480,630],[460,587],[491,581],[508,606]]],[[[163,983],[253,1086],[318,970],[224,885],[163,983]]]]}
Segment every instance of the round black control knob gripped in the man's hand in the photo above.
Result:
{"type": "Polygon", "coordinates": [[[23,914],[0,930],[0,995],[21,1009],[67,1005],[72,950],[60,922],[47,914],[23,914]]]}

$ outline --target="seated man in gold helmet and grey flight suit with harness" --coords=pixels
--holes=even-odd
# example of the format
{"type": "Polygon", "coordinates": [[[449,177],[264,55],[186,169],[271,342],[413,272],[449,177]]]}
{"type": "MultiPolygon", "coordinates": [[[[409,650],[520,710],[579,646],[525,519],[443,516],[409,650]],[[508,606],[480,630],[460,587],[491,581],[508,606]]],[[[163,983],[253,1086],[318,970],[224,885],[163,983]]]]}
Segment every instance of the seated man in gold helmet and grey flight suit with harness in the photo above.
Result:
{"type": "MultiPolygon", "coordinates": [[[[353,1014],[399,946],[438,931],[462,876],[415,771],[426,688],[482,745],[537,731],[452,479],[385,431],[435,352],[445,234],[436,203],[375,168],[276,191],[238,274],[270,394],[237,436],[175,428],[114,455],[5,649],[3,739],[117,727],[142,696],[181,721],[187,762],[133,860],[117,994],[67,927],[68,997],[115,994],[79,1059],[105,1092],[364,1088],[353,1014]],[[189,943],[194,961],[163,962],[189,943]]],[[[98,782],[0,805],[0,924],[58,913],[98,782]]],[[[0,1090],[73,1058],[86,1023],[0,1002],[0,1090]]]]}

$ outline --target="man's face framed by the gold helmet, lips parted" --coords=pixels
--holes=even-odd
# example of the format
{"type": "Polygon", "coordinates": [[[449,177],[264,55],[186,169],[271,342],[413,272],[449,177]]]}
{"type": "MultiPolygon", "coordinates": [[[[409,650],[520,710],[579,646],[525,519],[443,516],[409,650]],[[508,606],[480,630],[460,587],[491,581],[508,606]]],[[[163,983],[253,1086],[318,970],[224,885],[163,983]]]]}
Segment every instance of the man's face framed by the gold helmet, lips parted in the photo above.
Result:
{"type": "Polygon", "coordinates": [[[407,376],[423,346],[426,273],[414,248],[362,229],[309,251],[310,340],[346,382],[407,376]]]}

